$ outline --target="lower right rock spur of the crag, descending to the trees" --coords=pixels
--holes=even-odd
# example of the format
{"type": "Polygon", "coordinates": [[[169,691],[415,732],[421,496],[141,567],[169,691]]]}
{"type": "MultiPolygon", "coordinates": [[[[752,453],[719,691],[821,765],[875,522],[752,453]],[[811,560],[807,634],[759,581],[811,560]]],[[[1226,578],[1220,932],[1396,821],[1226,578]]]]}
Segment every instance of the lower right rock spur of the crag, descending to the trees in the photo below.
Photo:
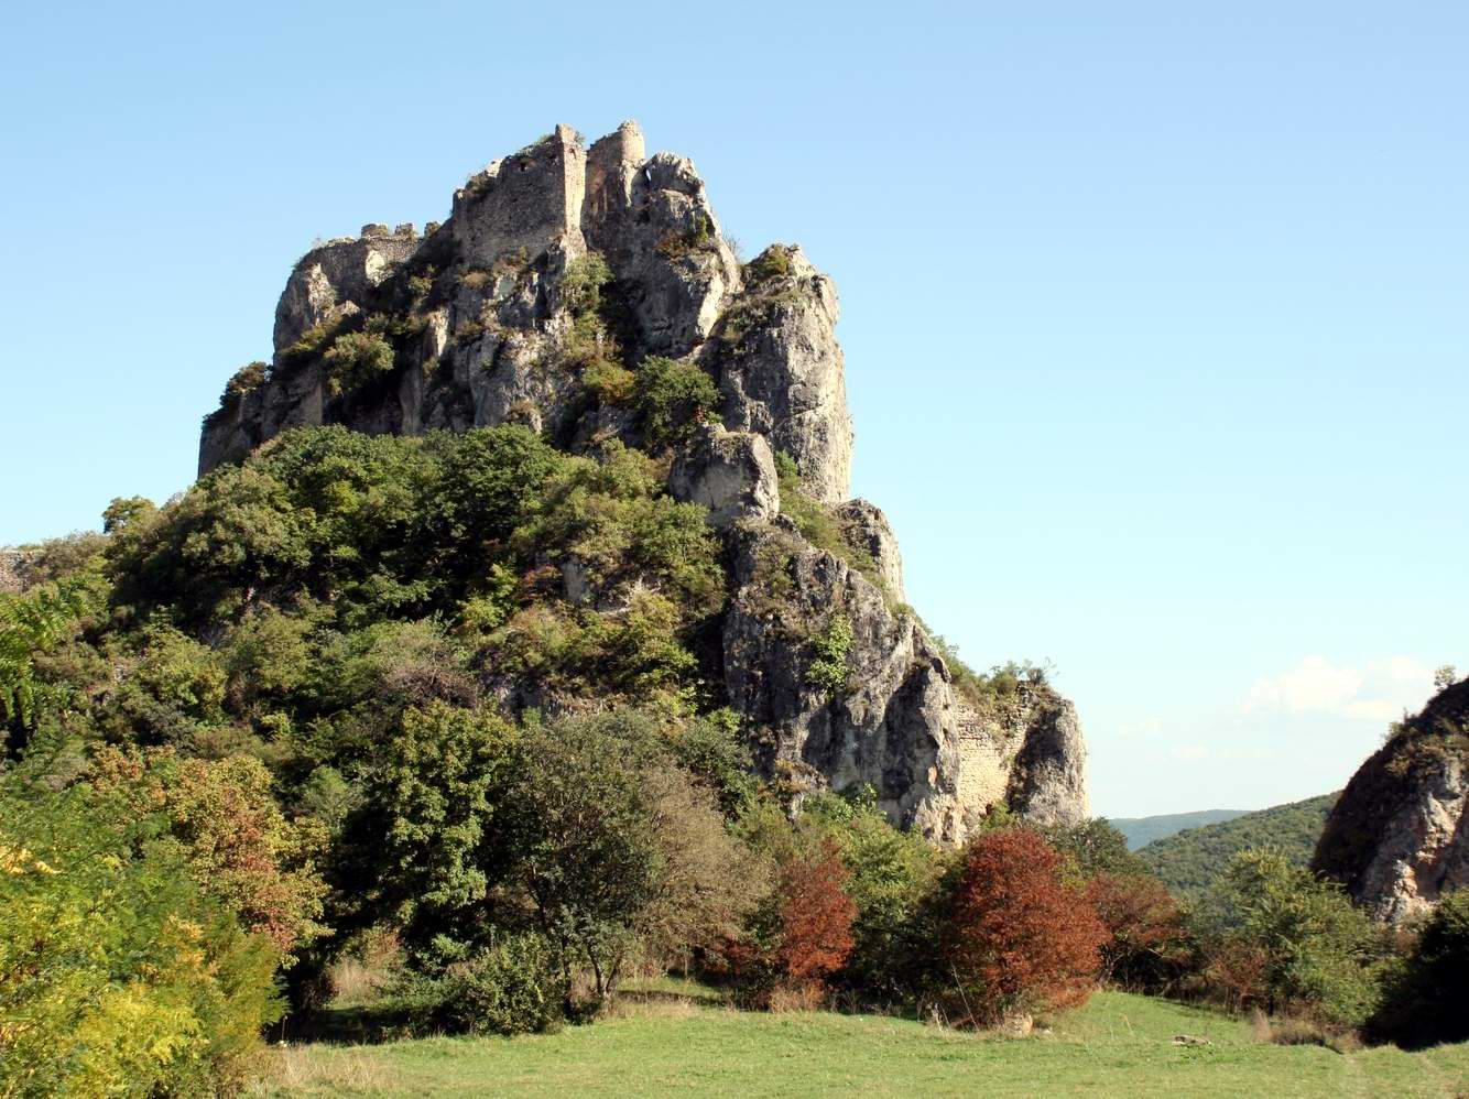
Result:
{"type": "Polygon", "coordinates": [[[945,843],[999,804],[1046,821],[1086,815],[1069,702],[1039,686],[965,699],[914,617],[789,519],[737,530],[733,557],[724,686],[767,730],[767,770],[805,789],[870,783],[890,817],[945,843]],[[842,624],[846,680],[829,691],[812,674],[812,642],[842,624]]]}

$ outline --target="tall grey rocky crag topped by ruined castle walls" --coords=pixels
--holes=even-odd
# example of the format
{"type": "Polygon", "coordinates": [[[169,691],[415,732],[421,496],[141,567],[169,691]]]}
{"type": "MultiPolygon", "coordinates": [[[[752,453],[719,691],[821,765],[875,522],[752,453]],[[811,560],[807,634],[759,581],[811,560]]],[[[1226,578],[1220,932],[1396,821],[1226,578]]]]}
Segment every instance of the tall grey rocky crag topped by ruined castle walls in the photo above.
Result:
{"type": "MultiPolygon", "coordinates": [[[[980,677],[905,604],[883,513],[848,500],[837,294],[798,247],[740,263],[693,165],[632,122],[586,147],[557,126],[491,163],[420,235],[369,225],[308,251],[251,363],[204,420],[200,473],[291,428],[370,435],[524,425],[563,451],[664,463],[707,510],[726,601],[698,660],[762,768],[798,789],[870,783],[906,826],[962,840],[992,807],[1086,815],[1072,704],[980,677]]],[[[551,554],[551,598],[620,616],[629,591],[551,554]]],[[[595,704],[482,670],[508,710],[595,704]]]]}

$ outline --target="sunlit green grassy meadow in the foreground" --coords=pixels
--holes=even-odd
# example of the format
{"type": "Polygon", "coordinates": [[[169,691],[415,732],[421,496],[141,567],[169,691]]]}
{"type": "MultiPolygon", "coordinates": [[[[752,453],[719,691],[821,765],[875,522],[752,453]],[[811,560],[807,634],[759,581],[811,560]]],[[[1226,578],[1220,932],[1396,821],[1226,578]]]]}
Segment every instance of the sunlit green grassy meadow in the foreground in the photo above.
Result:
{"type": "Polygon", "coordinates": [[[558,1034],[272,1051],[256,1095],[1453,1096],[1469,1045],[1419,1053],[1259,1042],[1249,1024],[1118,992],[1028,1039],[874,1015],[755,1014],[645,990],[558,1034]],[[1177,1034],[1208,1045],[1175,1045],[1177,1034]]]}

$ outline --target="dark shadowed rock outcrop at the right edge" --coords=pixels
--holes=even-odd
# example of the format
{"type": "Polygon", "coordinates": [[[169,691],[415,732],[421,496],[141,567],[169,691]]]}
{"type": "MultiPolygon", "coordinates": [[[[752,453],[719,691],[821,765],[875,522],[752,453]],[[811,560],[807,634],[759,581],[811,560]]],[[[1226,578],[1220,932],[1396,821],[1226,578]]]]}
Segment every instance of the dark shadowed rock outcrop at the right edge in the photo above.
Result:
{"type": "Polygon", "coordinates": [[[1432,698],[1351,776],[1312,868],[1379,920],[1469,886],[1469,680],[1432,698]]]}

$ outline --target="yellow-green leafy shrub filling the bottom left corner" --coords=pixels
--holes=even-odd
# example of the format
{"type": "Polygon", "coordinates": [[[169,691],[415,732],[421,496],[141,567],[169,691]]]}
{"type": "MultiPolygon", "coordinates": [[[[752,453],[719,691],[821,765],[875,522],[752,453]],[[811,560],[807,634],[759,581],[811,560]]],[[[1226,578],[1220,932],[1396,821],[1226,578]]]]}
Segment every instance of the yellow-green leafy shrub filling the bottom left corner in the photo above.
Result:
{"type": "Polygon", "coordinates": [[[276,949],[128,792],[0,782],[0,1095],[228,1093],[279,1017],[276,949]]]}

